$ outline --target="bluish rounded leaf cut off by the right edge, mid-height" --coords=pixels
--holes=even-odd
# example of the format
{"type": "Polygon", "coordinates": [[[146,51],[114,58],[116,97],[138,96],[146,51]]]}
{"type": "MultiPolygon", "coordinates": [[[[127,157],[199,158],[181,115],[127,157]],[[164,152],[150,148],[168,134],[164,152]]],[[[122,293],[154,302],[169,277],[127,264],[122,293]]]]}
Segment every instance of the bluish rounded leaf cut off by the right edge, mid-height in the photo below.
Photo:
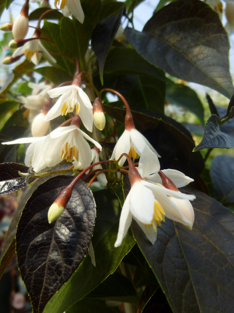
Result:
{"type": "Polygon", "coordinates": [[[222,203],[234,203],[234,157],[226,154],[216,156],[211,163],[210,177],[222,203]]]}

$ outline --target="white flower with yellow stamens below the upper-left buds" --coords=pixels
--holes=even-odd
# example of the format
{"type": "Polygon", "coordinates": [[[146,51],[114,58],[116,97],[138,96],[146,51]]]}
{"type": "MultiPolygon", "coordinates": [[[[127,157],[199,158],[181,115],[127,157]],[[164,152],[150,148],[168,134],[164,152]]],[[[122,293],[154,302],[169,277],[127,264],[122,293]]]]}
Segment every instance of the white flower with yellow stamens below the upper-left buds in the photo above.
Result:
{"type": "MultiPolygon", "coordinates": [[[[33,35],[32,37],[37,36],[33,35]]],[[[18,48],[12,56],[15,58],[21,54],[25,54],[25,57],[35,65],[39,64],[42,54],[44,54],[49,62],[56,63],[56,60],[49,54],[46,48],[43,47],[40,39],[34,39],[26,42],[26,44],[18,48]]]]}

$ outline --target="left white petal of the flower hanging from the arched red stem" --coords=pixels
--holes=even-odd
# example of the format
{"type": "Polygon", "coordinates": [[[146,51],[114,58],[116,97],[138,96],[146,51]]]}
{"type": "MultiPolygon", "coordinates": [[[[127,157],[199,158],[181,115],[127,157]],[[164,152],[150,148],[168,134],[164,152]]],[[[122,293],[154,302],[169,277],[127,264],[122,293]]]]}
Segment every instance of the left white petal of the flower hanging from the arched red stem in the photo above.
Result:
{"type": "MultiPolygon", "coordinates": [[[[130,147],[131,147],[130,131],[125,130],[122,136],[119,137],[119,140],[117,141],[115,145],[115,148],[112,153],[112,156],[110,157],[110,160],[118,160],[118,158],[121,156],[122,153],[129,153],[130,147]]],[[[121,160],[119,161],[119,165],[123,166],[125,160],[126,160],[126,157],[123,156],[121,160]]]]}

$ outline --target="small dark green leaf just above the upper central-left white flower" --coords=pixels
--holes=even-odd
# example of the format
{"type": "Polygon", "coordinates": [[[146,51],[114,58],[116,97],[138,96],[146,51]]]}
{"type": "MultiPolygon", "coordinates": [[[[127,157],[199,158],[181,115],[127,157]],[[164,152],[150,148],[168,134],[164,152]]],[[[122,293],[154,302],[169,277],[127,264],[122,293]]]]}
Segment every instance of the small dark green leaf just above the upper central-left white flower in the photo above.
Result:
{"type": "Polygon", "coordinates": [[[73,77],[62,69],[58,69],[52,66],[44,66],[35,69],[35,72],[41,74],[47,80],[51,81],[55,85],[60,85],[65,81],[72,81],[73,77]]]}

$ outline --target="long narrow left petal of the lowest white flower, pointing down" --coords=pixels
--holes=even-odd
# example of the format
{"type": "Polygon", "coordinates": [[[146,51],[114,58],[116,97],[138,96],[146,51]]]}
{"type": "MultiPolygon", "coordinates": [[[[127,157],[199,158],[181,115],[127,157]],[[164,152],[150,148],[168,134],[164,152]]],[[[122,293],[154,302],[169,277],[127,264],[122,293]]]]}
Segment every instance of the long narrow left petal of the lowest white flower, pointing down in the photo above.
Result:
{"type": "Polygon", "coordinates": [[[119,247],[122,244],[122,241],[132,223],[132,214],[130,212],[130,192],[131,190],[129,191],[129,194],[124,201],[124,205],[120,214],[119,230],[117,239],[115,241],[115,248],[119,247]]]}

